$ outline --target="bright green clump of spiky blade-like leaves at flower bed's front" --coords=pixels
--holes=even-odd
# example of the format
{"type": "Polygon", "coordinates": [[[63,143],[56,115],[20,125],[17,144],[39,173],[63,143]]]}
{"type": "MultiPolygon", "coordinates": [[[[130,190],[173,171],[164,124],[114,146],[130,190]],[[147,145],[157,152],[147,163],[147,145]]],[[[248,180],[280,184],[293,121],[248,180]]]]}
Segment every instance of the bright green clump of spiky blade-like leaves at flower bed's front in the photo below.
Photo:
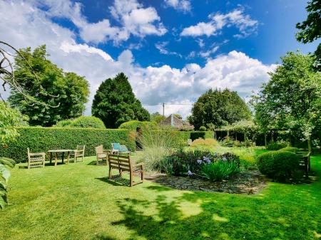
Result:
{"type": "Polygon", "coordinates": [[[200,174],[212,181],[222,181],[240,172],[240,167],[235,162],[217,161],[210,164],[203,164],[200,174]]]}

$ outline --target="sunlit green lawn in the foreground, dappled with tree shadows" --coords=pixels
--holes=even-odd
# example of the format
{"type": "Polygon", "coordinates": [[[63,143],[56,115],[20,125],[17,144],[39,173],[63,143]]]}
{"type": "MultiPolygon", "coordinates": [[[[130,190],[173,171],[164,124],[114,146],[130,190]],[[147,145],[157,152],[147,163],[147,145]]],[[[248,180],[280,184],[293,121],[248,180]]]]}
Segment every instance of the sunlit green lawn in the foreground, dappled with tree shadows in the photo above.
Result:
{"type": "MultiPolygon", "coordinates": [[[[0,239],[320,239],[321,182],[270,183],[257,195],[184,192],[108,182],[85,162],[19,169],[0,239]]],[[[312,157],[321,175],[321,155],[312,157]]]]}

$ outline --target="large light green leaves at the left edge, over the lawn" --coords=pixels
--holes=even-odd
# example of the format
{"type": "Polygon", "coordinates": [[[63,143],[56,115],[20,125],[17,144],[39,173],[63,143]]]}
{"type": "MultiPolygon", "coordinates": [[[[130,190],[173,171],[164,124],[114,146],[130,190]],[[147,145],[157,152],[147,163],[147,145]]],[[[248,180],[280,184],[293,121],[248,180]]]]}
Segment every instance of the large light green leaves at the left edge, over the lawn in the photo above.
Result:
{"type": "Polygon", "coordinates": [[[0,208],[8,203],[6,192],[8,191],[8,181],[11,175],[10,171],[14,168],[16,162],[6,157],[0,157],[0,208]]]}

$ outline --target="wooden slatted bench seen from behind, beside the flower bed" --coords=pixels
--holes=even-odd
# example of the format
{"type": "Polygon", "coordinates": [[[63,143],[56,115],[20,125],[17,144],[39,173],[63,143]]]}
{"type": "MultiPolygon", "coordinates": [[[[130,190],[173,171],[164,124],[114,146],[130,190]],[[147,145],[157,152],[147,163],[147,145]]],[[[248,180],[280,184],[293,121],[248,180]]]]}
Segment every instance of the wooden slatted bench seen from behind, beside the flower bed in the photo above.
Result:
{"type": "Polygon", "coordinates": [[[131,157],[128,155],[108,155],[109,164],[109,179],[114,179],[116,177],[122,177],[123,172],[129,172],[130,174],[130,186],[139,184],[143,182],[144,179],[144,164],[135,165],[131,157]],[[111,174],[112,169],[118,169],[119,174],[111,174]],[[134,182],[134,176],[141,176],[141,182],[134,182]]]}

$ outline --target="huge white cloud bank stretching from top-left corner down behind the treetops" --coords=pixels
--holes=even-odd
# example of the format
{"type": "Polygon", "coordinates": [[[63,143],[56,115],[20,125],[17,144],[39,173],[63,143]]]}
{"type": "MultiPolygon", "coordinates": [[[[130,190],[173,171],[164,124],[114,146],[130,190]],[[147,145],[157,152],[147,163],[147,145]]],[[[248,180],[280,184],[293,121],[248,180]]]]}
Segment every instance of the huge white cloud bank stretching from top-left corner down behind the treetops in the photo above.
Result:
{"type": "MultiPolygon", "coordinates": [[[[49,59],[65,71],[86,77],[90,83],[90,100],[86,114],[91,112],[93,95],[106,78],[123,71],[142,103],[193,103],[208,88],[238,90],[242,97],[258,90],[269,78],[267,66],[246,56],[231,51],[226,55],[208,58],[205,66],[189,63],[184,68],[168,65],[143,68],[134,63],[131,51],[126,50],[112,59],[108,53],[87,44],[76,43],[75,34],[51,21],[50,16],[32,3],[0,0],[0,36],[17,48],[35,48],[46,43],[49,59]]],[[[159,107],[146,107],[161,110],[159,107]]],[[[165,113],[180,113],[184,117],[190,105],[166,105],[165,113]]]]}

